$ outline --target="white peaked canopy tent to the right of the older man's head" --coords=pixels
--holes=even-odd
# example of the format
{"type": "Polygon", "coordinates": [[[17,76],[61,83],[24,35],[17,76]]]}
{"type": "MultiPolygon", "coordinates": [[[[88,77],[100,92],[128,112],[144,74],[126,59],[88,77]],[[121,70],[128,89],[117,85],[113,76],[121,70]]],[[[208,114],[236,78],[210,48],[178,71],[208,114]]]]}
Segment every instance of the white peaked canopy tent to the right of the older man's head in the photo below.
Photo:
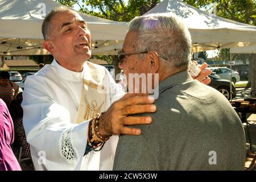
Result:
{"type": "Polygon", "coordinates": [[[179,0],[164,0],[146,14],[173,13],[191,32],[192,51],[243,47],[256,44],[256,27],[196,9],[179,0]]]}

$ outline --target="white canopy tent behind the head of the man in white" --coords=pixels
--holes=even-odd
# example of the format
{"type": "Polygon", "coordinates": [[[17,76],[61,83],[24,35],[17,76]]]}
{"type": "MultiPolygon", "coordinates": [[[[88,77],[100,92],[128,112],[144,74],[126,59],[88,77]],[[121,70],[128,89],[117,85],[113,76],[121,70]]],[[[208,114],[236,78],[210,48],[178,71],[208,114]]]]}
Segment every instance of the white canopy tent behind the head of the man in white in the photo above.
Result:
{"type": "MultiPolygon", "coordinates": [[[[41,26],[54,7],[53,0],[0,0],[0,55],[47,55],[41,26]]],[[[116,55],[127,31],[126,22],[115,22],[79,13],[92,35],[92,54],[116,55]]]]}

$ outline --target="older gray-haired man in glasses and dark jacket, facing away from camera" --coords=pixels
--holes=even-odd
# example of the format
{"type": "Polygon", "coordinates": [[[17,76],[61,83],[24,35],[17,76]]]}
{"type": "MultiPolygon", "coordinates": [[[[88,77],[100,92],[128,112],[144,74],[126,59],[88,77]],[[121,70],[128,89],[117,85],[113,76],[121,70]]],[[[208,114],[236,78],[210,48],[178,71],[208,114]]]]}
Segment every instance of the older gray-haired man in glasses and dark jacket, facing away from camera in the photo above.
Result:
{"type": "Polygon", "coordinates": [[[149,114],[154,122],[138,126],[139,136],[119,137],[115,170],[243,170],[240,118],[220,92],[189,75],[191,36],[179,19],[171,14],[134,18],[120,55],[129,84],[134,73],[158,76],[159,85],[154,77],[146,83],[153,82],[159,96],[158,110],[149,114]]]}

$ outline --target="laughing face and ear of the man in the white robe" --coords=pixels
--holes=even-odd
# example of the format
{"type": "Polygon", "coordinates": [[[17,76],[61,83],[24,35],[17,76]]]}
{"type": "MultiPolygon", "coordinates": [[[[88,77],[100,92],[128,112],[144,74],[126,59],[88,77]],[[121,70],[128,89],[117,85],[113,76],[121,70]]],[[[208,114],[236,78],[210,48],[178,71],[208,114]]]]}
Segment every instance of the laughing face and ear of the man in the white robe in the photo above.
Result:
{"type": "Polygon", "coordinates": [[[49,39],[43,44],[67,69],[81,66],[91,56],[90,31],[75,11],[53,15],[49,39]]]}

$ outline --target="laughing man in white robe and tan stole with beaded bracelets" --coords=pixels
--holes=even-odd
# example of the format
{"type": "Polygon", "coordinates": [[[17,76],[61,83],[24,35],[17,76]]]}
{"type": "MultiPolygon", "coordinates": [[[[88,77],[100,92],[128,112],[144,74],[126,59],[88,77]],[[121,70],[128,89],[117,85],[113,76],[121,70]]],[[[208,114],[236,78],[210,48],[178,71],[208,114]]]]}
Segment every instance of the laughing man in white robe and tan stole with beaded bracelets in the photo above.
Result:
{"type": "Polygon", "coordinates": [[[35,169],[112,170],[118,135],[140,135],[127,126],[152,118],[131,115],[154,113],[154,99],[125,95],[106,68],[86,61],[90,31],[75,11],[53,9],[42,32],[43,46],[55,59],[27,77],[22,102],[35,169]]]}

